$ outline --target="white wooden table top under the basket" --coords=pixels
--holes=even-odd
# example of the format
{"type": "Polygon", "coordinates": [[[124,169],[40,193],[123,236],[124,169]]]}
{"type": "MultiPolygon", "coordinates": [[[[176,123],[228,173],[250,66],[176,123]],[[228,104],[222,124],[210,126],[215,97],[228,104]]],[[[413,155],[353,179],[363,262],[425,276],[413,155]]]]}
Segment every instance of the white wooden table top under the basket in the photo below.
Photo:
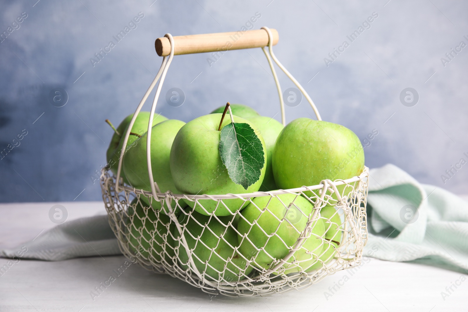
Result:
{"type": "MultiPolygon", "coordinates": [[[[54,204],[0,204],[0,247],[16,246],[55,226],[48,217],[54,204]]],[[[60,204],[68,220],[105,213],[102,202],[60,204]]],[[[0,267],[7,261],[0,258],[0,267]]],[[[445,300],[441,296],[461,273],[373,258],[352,276],[343,271],[306,290],[251,298],[210,297],[132,264],[93,300],[90,292],[117,276],[114,269],[124,261],[123,256],[21,260],[0,276],[0,311],[468,311],[468,279],[445,300]]]]}

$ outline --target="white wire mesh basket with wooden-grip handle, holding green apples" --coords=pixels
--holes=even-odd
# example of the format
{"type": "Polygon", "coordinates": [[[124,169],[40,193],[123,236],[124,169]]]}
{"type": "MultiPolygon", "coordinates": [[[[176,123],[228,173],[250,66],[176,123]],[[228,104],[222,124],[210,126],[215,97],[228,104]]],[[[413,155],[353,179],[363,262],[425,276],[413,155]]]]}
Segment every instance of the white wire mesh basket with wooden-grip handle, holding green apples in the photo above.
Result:
{"type": "MultiPolygon", "coordinates": [[[[243,35],[246,43],[239,40],[234,49],[262,47],[278,87],[283,124],[284,103],[271,58],[301,90],[321,120],[305,90],[273,54],[272,45],[278,42],[278,33],[266,27],[247,33],[248,36],[243,35]],[[252,36],[256,39],[252,40],[252,36]],[[270,55],[264,48],[266,45],[270,55]]],[[[175,40],[179,37],[170,34],[158,38],[158,54],[168,53],[169,58],[164,56],[158,74],[132,117],[117,175],[102,171],[102,198],[110,226],[127,258],[210,294],[267,296],[303,289],[338,270],[359,265],[367,241],[367,167],[359,176],[347,180],[323,180],[315,186],[246,194],[161,193],[156,182],[151,185],[151,191],[145,191],[124,186],[120,178],[124,150],[135,118],[161,78],[149,118],[153,120],[173,56],[216,51],[217,45],[224,44],[227,34],[231,33],[211,34],[224,37],[220,36],[214,44],[208,44],[211,39],[205,40],[205,45],[209,45],[205,50],[204,44],[190,50],[194,49],[190,41],[189,48],[184,50],[182,39],[190,36],[183,36],[177,44],[175,40]],[[164,46],[162,39],[167,39],[169,46],[164,46]],[[215,215],[216,209],[227,208],[227,201],[232,206],[234,199],[239,203],[237,210],[227,216],[215,215]],[[210,208],[205,209],[204,205],[210,208]]],[[[148,138],[151,138],[151,126],[149,123],[148,138]]],[[[151,159],[150,141],[147,141],[147,159],[151,159]]],[[[148,175],[154,181],[151,162],[148,162],[148,175]]]]}

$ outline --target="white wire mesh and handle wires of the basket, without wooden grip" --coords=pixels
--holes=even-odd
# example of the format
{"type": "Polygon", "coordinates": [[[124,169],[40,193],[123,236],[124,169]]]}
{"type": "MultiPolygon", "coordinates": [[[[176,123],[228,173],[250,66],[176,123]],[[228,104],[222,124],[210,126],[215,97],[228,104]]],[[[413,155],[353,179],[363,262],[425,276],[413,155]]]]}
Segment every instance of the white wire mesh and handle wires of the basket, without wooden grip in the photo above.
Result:
{"type": "MultiPolygon", "coordinates": [[[[266,47],[262,47],[262,50],[268,60],[268,64],[270,65],[271,72],[273,73],[275,84],[278,89],[279,102],[281,106],[281,121],[283,125],[285,125],[285,105],[278,75],[272,60],[279,68],[281,68],[286,76],[292,80],[302,94],[304,94],[314,110],[317,119],[322,120],[314,102],[311,100],[307,92],[275,57],[272,49],[273,36],[271,34],[271,30],[267,27],[262,27],[262,29],[264,29],[269,36],[269,49],[267,51],[266,47]]],[[[122,253],[127,257],[136,255],[137,261],[140,265],[149,270],[153,270],[156,273],[166,273],[184,280],[191,285],[199,287],[207,293],[220,293],[226,296],[265,296],[293,289],[300,290],[312,285],[313,283],[317,283],[325,276],[333,274],[338,270],[357,266],[362,259],[362,249],[367,240],[367,167],[359,176],[352,177],[351,179],[336,181],[323,180],[319,185],[303,186],[296,189],[279,189],[269,192],[257,191],[248,194],[220,195],[172,194],[170,190],[165,193],[161,193],[161,189],[154,181],[151,167],[151,131],[156,104],[161,94],[161,88],[166,78],[169,65],[174,57],[174,39],[170,34],[166,34],[165,37],[169,39],[171,47],[170,54],[168,57],[163,57],[161,67],[156,77],[132,116],[132,120],[130,121],[128,129],[124,135],[124,143],[119,158],[117,175],[112,176],[109,171],[103,169],[101,176],[102,198],[106,204],[106,209],[108,210],[110,226],[117,236],[119,248],[122,253]],[[148,177],[150,181],[154,181],[154,183],[151,183],[151,191],[137,190],[132,187],[124,186],[123,180],[120,178],[123,156],[133,124],[135,123],[135,120],[149,94],[156,86],[156,83],[158,83],[158,80],[159,84],[154,95],[146,136],[148,177]],[[337,186],[340,185],[344,186],[343,194],[340,194],[337,189],[337,186]],[[350,187],[351,191],[346,190],[346,188],[350,187]],[[291,197],[294,198],[291,203],[286,203],[279,197],[282,194],[295,196],[291,197]],[[335,194],[335,196],[332,196],[333,194],[335,194]],[[161,209],[155,210],[151,207],[143,208],[143,204],[140,201],[141,196],[145,196],[149,199],[150,206],[152,200],[160,202],[161,209]],[[255,197],[262,196],[270,196],[265,207],[253,202],[255,197]],[[132,197],[137,199],[136,204],[132,202],[132,197]],[[224,203],[225,199],[233,198],[241,199],[243,200],[243,203],[247,203],[252,208],[258,209],[260,212],[258,218],[251,223],[239,210],[231,212],[229,216],[218,217],[215,215],[214,211],[208,213],[208,211],[206,211],[203,205],[199,202],[199,200],[202,199],[211,199],[218,202],[217,207],[222,207],[226,205],[224,203]],[[304,198],[313,206],[310,213],[305,213],[298,205],[296,205],[296,203],[294,203],[296,200],[299,202],[300,200],[304,201],[304,198]],[[193,212],[193,209],[183,210],[181,201],[184,199],[194,202],[195,205],[205,210],[205,213],[208,215],[208,221],[206,221],[205,224],[205,221],[200,223],[196,219],[197,215],[193,212]],[[282,218],[274,214],[275,208],[272,203],[273,199],[276,202],[279,201],[279,203],[285,208],[285,216],[282,218]],[[172,207],[174,202],[175,207],[172,207]],[[142,208],[142,210],[140,209],[138,211],[143,211],[143,216],[140,216],[140,213],[137,211],[138,205],[142,208]],[[273,205],[273,208],[271,208],[270,205],[273,205]],[[167,207],[167,210],[164,206],[167,207]],[[333,215],[331,217],[324,217],[324,215],[321,214],[322,209],[327,206],[334,207],[332,210],[333,215]],[[300,224],[299,228],[296,227],[296,222],[289,220],[289,217],[286,218],[286,214],[291,212],[290,209],[296,209],[299,211],[300,218],[307,218],[304,223],[300,224]],[[179,211],[177,213],[182,211],[186,218],[178,218],[176,210],[179,211]],[[132,214],[130,214],[131,212],[132,214]],[[265,231],[257,223],[263,213],[270,214],[274,218],[275,222],[278,222],[278,226],[275,225],[276,230],[274,232],[270,233],[270,231],[265,231]],[[335,221],[332,221],[332,218],[335,218],[335,221]],[[331,229],[332,224],[334,224],[334,231],[336,232],[334,232],[335,234],[332,233],[333,237],[331,239],[325,239],[325,233],[320,235],[315,234],[315,232],[313,233],[314,227],[317,225],[317,221],[319,219],[323,220],[325,228],[328,226],[325,233],[328,233],[327,231],[331,229]],[[237,224],[241,220],[244,223],[248,223],[250,228],[247,232],[239,232],[237,224]],[[187,227],[189,221],[195,222],[199,227],[201,227],[200,234],[194,234],[189,231],[187,227]],[[183,224],[183,222],[187,223],[183,224]],[[208,225],[210,222],[214,222],[216,224],[220,223],[222,231],[220,233],[214,231],[211,226],[208,225]],[[285,240],[277,233],[280,226],[284,223],[298,235],[298,238],[290,243],[286,243],[285,240]],[[160,226],[164,229],[162,234],[160,232],[160,226]],[[254,226],[257,226],[260,229],[260,235],[264,235],[266,238],[266,242],[263,247],[261,247],[262,245],[257,247],[251,240],[252,237],[249,237],[249,233],[252,231],[254,226]],[[230,231],[231,234],[229,234],[228,231],[230,231]],[[204,233],[212,239],[218,239],[215,247],[209,246],[209,243],[202,239],[202,235],[204,235],[204,233]],[[237,239],[235,241],[229,241],[229,235],[233,234],[239,238],[239,242],[237,242],[237,239]],[[149,239],[147,238],[148,235],[150,236],[149,239]],[[311,248],[304,247],[313,246],[304,245],[306,244],[307,239],[312,235],[317,239],[321,239],[321,245],[311,248]],[[187,239],[190,239],[191,245],[187,239]],[[270,239],[276,239],[277,243],[279,242],[280,244],[283,244],[283,247],[287,248],[285,250],[287,254],[285,254],[284,257],[275,257],[271,254],[272,250],[267,248],[267,244],[270,239]],[[332,239],[335,239],[333,240],[335,245],[331,244],[332,239]],[[178,243],[171,245],[170,240],[173,240],[174,242],[177,241],[178,243]],[[239,245],[236,245],[237,243],[239,243],[239,245]],[[251,244],[256,251],[256,255],[247,256],[242,254],[239,251],[242,243],[251,244]],[[193,244],[195,245],[192,246],[193,244]],[[222,250],[217,249],[220,244],[229,247],[230,249],[228,249],[228,252],[230,253],[232,250],[233,254],[230,256],[221,254],[222,250]],[[206,260],[203,255],[197,254],[197,246],[201,247],[208,253],[208,260],[206,260]],[[322,246],[328,246],[328,248],[326,248],[326,250],[322,250],[322,246]],[[136,249],[139,251],[136,252],[136,249]],[[299,250],[302,253],[304,253],[305,250],[305,253],[308,254],[310,258],[304,259],[301,254],[296,257],[295,253],[299,250]],[[184,260],[180,257],[181,251],[186,254],[186,256],[183,257],[184,260]],[[325,256],[327,251],[331,251],[328,258],[325,256]],[[271,262],[270,260],[269,262],[265,262],[269,263],[268,265],[262,266],[257,262],[256,258],[260,253],[271,258],[271,262]],[[237,257],[237,255],[239,255],[239,257],[237,257]],[[234,258],[236,257],[236,261],[241,262],[235,262],[234,258]],[[326,259],[321,257],[325,257],[326,259]],[[215,260],[214,262],[210,261],[212,258],[215,260]],[[221,262],[223,263],[223,266],[219,267],[219,264],[216,262],[217,259],[224,261],[221,262]],[[198,267],[196,262],[197,265],[199,265],[198,267]],[[249,268],[253,269],[251,270],[251,273],[250,271],[247,271],[249,268]],[[213,273],[209,272],[214,272],[215,276],[213,276],[213,273]],[[234,280],[230,276],[234,276],[234,280]]],[[[325,247],[323,247],[323,249],[325,249],[325,247]]]]}

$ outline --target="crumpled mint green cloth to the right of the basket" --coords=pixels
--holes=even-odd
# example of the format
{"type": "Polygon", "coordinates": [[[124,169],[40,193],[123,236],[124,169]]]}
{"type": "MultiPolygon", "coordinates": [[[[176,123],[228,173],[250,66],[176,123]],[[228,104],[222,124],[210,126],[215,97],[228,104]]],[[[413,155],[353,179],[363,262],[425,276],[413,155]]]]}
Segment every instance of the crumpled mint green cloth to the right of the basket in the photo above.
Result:
{"type": "Polygon", "coordinates": [[[365,255],[388,261],[424,258],[425,264],[468,269],[466,201],[418,183],[395,165],[371,169],[369,175],[365,255]]]}

